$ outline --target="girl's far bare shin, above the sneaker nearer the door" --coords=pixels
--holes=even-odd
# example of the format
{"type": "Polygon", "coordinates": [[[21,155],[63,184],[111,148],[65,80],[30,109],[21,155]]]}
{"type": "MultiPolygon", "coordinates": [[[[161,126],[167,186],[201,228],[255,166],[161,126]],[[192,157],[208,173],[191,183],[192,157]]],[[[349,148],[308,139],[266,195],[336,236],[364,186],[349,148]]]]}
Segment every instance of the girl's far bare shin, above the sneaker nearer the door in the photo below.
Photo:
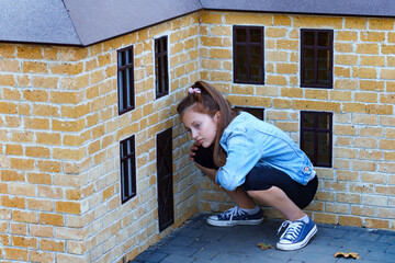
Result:
{"type": "MultiPolygon", "coordinates": [[[[207,169],[204,168],[195,162],[196,167],[206,174],[214,183],[215,183],[215,176],[216,176],[216,170],[215,169],[207,169]]],[[[247,195],[247,193],[241,188],[237,187],[234,191],[227,191],[225,190],[225,193],[230,196],[230,198],[236,203],[236,205],[244,209],[253,209],[257,205],[253,203],[253,201],[247,195]]]]}

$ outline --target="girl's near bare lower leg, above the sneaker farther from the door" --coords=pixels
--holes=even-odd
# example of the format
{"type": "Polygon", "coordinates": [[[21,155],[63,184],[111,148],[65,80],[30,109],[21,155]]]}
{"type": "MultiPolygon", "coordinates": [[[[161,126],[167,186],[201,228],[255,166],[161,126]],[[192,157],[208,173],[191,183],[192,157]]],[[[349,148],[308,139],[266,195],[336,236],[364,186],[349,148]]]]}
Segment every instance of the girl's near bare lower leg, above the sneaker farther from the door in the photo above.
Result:
{"type": "Polygon", "coordinates": [[[247,193],[252,198],[278,209],[291,221],[301,219],[306,215],[287,197],[284,191],[276,186],[272,186],[269,190],[248,191],[247,193]]]}

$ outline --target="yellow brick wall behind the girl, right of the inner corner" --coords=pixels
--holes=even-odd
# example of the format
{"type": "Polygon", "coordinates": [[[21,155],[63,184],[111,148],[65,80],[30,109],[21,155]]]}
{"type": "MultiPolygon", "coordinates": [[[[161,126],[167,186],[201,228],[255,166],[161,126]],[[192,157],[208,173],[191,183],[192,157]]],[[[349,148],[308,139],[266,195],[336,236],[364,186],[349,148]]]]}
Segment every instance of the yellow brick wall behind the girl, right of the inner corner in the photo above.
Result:
{"type": "MultiPolygon", "coordinates": [[[[334,113],[334,168],[317,168],[317,222],[395,229],[394,19],[201,13],[202,76],[300,139],[300,111],[334,113]],[[233,25],[264,26],[264,85],[233,83],[233,25]],[[300,30],[334,30],[334,89],[300,88],[300,30]]],[[[234,206],[207,179],[202,210],[234,206]]],[[[281,217],[267,208],[267,216],[281,217]]]]}

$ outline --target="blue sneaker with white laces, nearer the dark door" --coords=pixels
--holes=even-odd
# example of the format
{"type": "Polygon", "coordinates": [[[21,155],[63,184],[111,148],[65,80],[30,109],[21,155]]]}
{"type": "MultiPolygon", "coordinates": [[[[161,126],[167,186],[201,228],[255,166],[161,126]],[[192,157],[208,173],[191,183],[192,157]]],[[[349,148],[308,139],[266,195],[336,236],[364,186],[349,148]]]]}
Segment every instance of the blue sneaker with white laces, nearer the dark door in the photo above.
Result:
{"type": "Polygon", "coordinates": [[[259,211],[249,215],[241,210],[238,206],[227,209],[226,211],[211,216],[207,218],[207,224],[215,227],[229,227],[237,225],[259,225],[263,221],[263,211],[259,208],[259,211]]]}

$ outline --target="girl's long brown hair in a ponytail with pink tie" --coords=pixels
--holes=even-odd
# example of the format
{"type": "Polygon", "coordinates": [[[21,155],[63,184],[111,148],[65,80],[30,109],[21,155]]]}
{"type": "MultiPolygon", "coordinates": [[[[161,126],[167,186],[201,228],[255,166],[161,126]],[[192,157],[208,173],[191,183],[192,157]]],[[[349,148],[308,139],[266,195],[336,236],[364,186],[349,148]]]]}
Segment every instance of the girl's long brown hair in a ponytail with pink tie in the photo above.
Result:
{"type": "Polygon", "coordinates": [[[182,117],[187,110],[193,110],[198,113],[208,114],[211,117],[219,111],[219,122],[214,140],[214,162],[217,167],[226,163],[226,152],[221,147],[219,140],[225,128],[235,117],[235,112],[230,107],[230,103],[217,91],[213,85],[204,81],[196,81],[188,95],[177,106],[178,114],[182,117]],[[196,90],[196,88],[199,90],[196,90]]]}

